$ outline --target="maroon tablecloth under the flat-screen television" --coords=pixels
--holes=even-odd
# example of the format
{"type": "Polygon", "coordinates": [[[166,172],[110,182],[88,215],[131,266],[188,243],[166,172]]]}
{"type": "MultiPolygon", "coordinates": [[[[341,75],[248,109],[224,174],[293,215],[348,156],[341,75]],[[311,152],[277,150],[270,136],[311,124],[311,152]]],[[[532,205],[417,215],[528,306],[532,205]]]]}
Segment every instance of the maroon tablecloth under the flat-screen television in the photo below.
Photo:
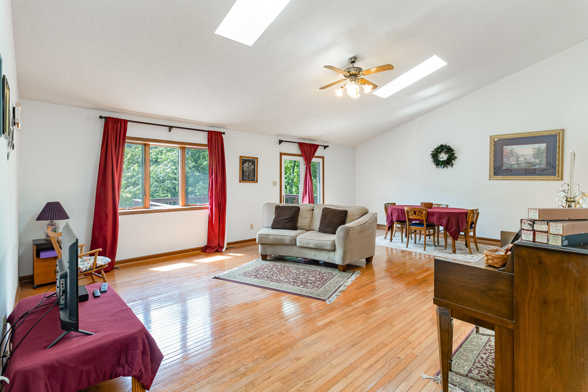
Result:
{"type": "MultiPolygon", "coordinates": [[[[79,304],[79,329],[95,335],[70,332],[51,349],[45,349],[63,332],[56,305],[10,359],[4,374],[10,384],[4,384],[5,392],[76,392],[121,376],[135,377],[143,387],[151,388],[163,360],[155,340],[110,284],[108,292],[98,298],[92,292],[100,289],[100,283],[86,288],[90,298],[79,304]]],[[[41,297],[39,294],[19,301],[8,322],[12,324],[41,297]]],[[[48,309],[29,314],[16,330],[13,343],[18,343],[48,309]]]]}

